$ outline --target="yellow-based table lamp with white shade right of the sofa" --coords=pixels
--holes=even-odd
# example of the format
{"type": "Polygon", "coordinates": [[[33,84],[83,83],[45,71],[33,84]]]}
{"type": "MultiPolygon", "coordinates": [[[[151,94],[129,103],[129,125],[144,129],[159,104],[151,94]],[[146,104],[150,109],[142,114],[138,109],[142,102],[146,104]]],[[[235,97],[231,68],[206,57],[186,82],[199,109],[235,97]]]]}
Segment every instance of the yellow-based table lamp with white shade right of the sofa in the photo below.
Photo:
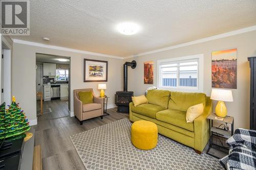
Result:
{"type": "Polygon", "coordinates": [[[224,102],[233,102],[233,95],[231,90],[226,89],[212,89],[210,99],[218,101],[215,112],[218,117],[226,117],[227,108],[224,102]]]}

